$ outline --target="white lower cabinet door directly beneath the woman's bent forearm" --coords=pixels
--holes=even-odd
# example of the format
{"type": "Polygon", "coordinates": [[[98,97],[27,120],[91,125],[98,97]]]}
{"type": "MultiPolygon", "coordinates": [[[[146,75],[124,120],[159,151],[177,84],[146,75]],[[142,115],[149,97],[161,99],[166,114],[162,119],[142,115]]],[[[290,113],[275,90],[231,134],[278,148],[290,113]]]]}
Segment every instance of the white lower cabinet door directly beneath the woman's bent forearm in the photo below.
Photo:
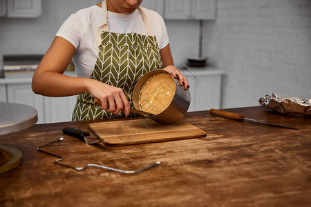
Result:
{"type": "Polygon", "coordinates": [[[71,121],[77,96],[44,97],[44,123],[71,121]]]}

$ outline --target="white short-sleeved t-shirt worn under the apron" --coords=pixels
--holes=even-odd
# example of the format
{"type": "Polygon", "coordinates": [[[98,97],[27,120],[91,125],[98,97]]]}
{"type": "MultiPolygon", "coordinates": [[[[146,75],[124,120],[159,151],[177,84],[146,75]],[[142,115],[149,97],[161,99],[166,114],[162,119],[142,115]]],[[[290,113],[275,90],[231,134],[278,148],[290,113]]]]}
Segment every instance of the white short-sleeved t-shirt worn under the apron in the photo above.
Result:
{"type": "MultiPolygon", "coordinates": [[[[169,43],[169,37],[162,17],[155,11],[146,8],[142,10],[147,16],[153,35],[156,35],[159,48],[164,48],[169,43]]],[[[99,52],[96,34],[103,22],[102,8],[91,6],[71,14],[56,34],[77,48],[73,56],[77,77],[91,77],[99,52]]],[[[108,12],[108,23],[110,32],[135,32],[147,35],[139,10],[135,10],[132,14],[108,12]]]]}

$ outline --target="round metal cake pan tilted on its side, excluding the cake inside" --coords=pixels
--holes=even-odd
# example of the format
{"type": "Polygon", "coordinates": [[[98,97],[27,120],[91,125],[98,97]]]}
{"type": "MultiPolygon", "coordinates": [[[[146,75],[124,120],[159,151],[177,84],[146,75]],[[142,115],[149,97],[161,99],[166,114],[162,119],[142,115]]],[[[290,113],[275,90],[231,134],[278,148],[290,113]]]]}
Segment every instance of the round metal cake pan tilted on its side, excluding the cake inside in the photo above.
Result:
{"type": "Polygon", "coordinates": [[[142,86],[144,86],[144,83],[151,79],[151,77],[160,74],[169,75],[169,77],[175,81],[175,94],[169,106],[158,115],[151,117],[151,119],[160,124],[173,124],[184,117],[189,108],[191,97],[189,90],[185,90],[183,86],[180,86],[178,79],[175,79],[171,73],[166,70],[152,70],[138,80],[133,91],[133,104],[136,109],[141,110],[139,100],[142,86]]]}

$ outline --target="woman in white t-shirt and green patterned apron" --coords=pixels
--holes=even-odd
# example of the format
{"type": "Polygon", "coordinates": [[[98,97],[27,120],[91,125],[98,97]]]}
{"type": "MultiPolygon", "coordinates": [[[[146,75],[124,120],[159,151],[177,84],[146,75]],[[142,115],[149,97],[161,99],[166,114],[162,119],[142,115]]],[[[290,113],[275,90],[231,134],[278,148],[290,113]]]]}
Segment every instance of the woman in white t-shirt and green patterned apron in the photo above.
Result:
{"type": "Polygon", "coordinates": [[[145,73],[164,68],[189,88],[173,66],[167,30],[142,0],[106,0],[79,10],[64,22],[32,78],[40,95],[79,95],[73,121],[128,117],[135,83],[145,73]],[[77,77],[63,75],[73,58],[77,77]],[[100,99],[102,106],[93,103],[100,99]]]}

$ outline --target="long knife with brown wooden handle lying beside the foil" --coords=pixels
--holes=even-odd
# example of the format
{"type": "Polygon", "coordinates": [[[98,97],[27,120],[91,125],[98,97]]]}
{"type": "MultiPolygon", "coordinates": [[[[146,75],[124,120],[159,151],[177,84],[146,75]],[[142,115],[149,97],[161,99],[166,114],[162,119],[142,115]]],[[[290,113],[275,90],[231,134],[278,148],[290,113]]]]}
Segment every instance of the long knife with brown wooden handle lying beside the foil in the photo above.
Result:
{"type": "Polygon", "coordinates": [[[254,122],[256,124],[264,124],[264,125],[268,125],[268,126],[278,126],[278,127],[290,128],[290,129],[298,130],[298,128],[292,128],[292,127],[289,127],[289,126],[281,126],[279,124],[272,124],[272,123],[267,123],[267,122],[264,122],[264,121],[255,120],[255,119],[249,119],[249,118],[246,118],[243,115],[239,115],[239,114],[236,114],[236,113],[233,113],[233,112],[227,112],[227,111],[224,111],[224,110],[217,110],[217,109],[211,108],[211,110],[209,110],[209,112],[211,114],[214,114],[214,115],[219,115],[221,117],[232,118],[232,119],[236,119],[236,120],[239,120],[239,121],[251,121],[251,122],[254,122]]]}

